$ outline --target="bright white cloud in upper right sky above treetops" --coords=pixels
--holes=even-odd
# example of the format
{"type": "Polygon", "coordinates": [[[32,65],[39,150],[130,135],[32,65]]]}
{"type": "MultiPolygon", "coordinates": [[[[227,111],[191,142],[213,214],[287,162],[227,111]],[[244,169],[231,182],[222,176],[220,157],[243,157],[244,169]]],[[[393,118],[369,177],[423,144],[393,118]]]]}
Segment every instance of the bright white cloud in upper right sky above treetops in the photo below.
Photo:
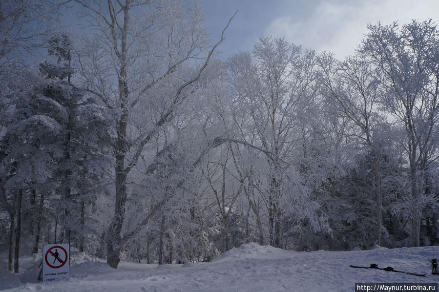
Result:
{"type": "Polygon", "coordinates": [[[430,18],[437,21],[438,11],[438,0],[321,1],[308,17],[286,15],[274,19],[264,34],[285,37],[305,48],[331,51],[337,58],[344,58],[354,54],[367,33],[367,23],[402,24],[430,18]]]}

